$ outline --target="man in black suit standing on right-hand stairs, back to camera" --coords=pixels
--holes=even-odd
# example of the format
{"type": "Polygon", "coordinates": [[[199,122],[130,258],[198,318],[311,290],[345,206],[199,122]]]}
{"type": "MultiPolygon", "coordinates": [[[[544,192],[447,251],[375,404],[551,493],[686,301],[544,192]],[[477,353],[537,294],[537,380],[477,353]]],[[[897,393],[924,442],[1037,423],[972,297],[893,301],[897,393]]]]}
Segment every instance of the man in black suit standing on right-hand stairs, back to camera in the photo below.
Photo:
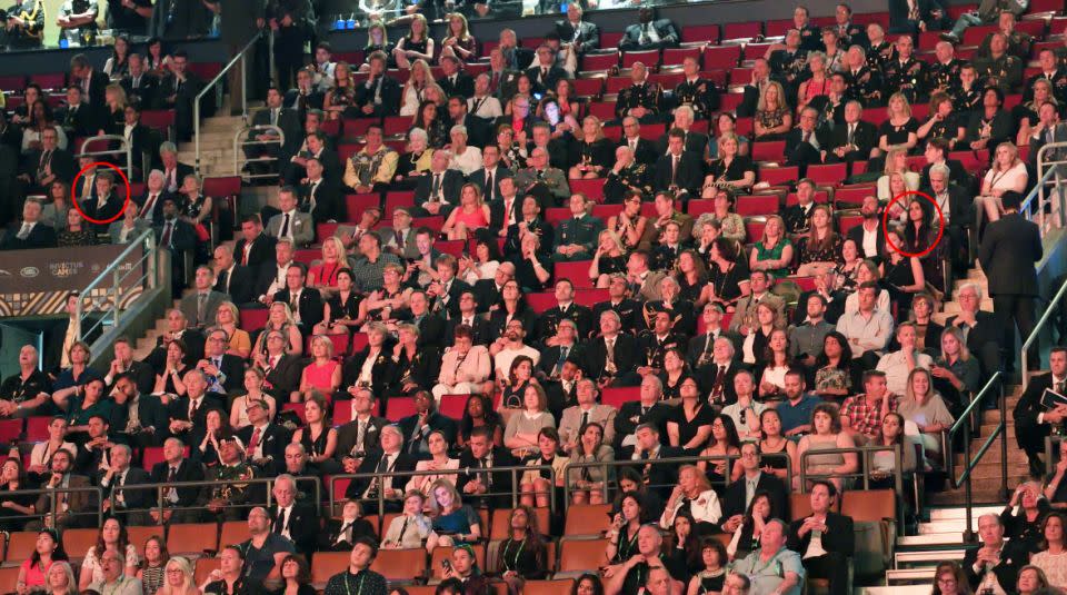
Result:
{"type": "MultiPolygon", "coordinates": [[[[1004,205],[1004,215],[986,227],[978,247],[978,261],[988,278],[993,310],[1001,321],[1014,321],[1023,340],[1026,340],[1036,323],[1034,299],[1038,296],[1038,285],[1034,265],[1044,254],[1041,231],[1037,224],[1019,215],[1023,195],[1007,191],[1000,196],[1000,202],[1004,205]]],[[[1006,326],[1006,330],[1007,366],[1010,368],[1015,359],[1015,333],[1010,325],[1006,326]]],[[[1027,354],[1030,369],[1040,367],[1037,347],[1034,345],[1027,354]]]]}

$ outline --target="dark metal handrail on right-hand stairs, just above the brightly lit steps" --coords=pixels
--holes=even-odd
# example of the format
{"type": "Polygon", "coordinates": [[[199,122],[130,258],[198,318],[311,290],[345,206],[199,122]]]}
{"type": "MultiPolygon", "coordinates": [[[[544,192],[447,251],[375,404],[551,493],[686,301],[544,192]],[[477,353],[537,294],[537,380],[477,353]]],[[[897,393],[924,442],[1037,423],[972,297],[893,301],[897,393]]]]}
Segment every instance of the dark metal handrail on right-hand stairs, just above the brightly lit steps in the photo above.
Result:
{"type": "MultiPolygon", "coordinates": [[[[1004,398],[1004,383],[1000,381],[1003,373],[997,370],[986,383],[986,386],[978,391],[970,404],[967,405],[967,408],[964,409],[964,413],[959,415],[956,419],[956,423],[953,424],[953,427],[948,430],[948,440],[947,448],[945,449],[945,467],[948,472],[948,479],[951,482],[953,487],[959,489],[960,486],[964,487],[964,498],[966,502],[967,510],[967,530],[964,532],[965,542],[974,542],[975,534],[971,530],[971,510],[975,506],[974,493],[971,492],[971,475],[974,474],[975,467],[981,463],[981,458],[986,456],[986,453],[989,450],[989,447],[993,446],[994,440],[1000,438],[1000,498],[1006,499],[1008,497],[1008,426],[1007,426],[1007,413],[1008,407],[1006,399],[1004,398]],[[971,419],[974,418],[975,407],[978,404],[983,403],[990,395],[997,395],[997,401],[1000,407],[1000,423],[997,424],[997,427],[989,434],[986,438],[986,442],[981,444],[978,448],[978,452],[975,453],[974,458],[970,456],[970,437],[971,437],[971,419]],[[964,473],[956,477],[956,453],[955,450],[955,440],[956,436],[963,432],[964,433],[964,473]]],[[[979,415],[980,415],[979,409],[979,415]]]]}

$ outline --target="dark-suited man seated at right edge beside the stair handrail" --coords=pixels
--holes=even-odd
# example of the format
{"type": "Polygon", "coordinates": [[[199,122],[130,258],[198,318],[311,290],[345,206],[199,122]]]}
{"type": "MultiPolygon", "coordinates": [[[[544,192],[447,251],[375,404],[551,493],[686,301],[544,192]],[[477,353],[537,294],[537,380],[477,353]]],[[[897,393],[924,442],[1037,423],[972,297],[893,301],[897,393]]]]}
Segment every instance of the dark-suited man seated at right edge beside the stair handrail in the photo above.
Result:
{"type": "Polygon", "coordinates": [[[1045,438],[1053,428],[1063,429],[1067,419],[1067,405],[1048,409],[1041,405],[1041,396],[1051,390],[1067,396],[1067,347],[1056,346],[1048,354],[1051,371],[1033,378],[1026,391],[1015,405],[1015,437],[1019,448],[1026,450],[1030,463],[1030,473],[1039,476],[1045,473],[1045,464],[1039,455],[1045,452],[1045,438]]]}

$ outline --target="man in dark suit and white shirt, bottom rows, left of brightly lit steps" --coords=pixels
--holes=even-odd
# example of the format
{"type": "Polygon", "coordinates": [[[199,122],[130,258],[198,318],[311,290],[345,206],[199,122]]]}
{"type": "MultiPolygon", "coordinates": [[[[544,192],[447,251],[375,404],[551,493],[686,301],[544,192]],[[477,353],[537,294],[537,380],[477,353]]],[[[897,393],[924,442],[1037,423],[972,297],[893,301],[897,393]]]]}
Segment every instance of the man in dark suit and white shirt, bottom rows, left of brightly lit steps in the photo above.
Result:
{"type": "Polygon", "coordinates": [[[851,517],[832,510],[837,488],[826,479],[811,487],[811,515],[789,525],[789,549],[800,554],[808,576],[828,578],[831,595],[848,593],[848,561],[856,551],[851,517]]]}

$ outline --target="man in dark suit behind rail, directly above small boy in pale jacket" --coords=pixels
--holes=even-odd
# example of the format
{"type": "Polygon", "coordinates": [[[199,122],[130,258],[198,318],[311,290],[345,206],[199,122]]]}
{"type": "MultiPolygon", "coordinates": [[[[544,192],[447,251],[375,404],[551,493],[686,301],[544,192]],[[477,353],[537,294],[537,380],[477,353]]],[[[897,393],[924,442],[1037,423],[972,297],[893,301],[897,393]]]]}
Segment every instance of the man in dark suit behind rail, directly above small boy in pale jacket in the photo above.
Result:
{"type": "MultiPolygon", "coordinates": [[[[403,436],[400,428],[393,425],[381,428],[380,433],[381,448],[367,453],[363,462],[359,465],[356,473],[402,473],[415,470],[416,457],[401,450],[403,436]]],[[[462,463],[460,463],[462,466],[462,463]]],[[[386,512],[399,512],[403,499],[403,486],[407,485],[410,476],[395,475],[390,477],[360,477],[353,479],[345,490],[345,497],[348,499],[362,499],[365,507],[371,514],[386,512]],[[373,510],[371,506],[377,506],[379,490],[386,500],[385,510],[373,510]]]]}

